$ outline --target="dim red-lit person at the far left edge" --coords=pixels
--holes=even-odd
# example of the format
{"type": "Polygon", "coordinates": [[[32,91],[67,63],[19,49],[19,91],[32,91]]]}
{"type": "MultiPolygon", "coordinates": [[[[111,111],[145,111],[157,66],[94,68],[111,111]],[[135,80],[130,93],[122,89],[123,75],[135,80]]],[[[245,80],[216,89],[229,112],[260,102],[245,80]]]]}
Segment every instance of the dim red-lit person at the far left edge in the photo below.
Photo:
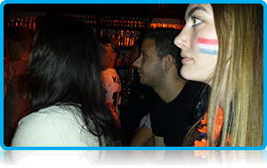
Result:
{"type": "Polygon", "coordinates": [[[28,109],[18,92],[18,77],[26,69],[34,33],[29,28],[7,28],[4,32],[4,145],[10,146],[17,124],[28,109]]]}

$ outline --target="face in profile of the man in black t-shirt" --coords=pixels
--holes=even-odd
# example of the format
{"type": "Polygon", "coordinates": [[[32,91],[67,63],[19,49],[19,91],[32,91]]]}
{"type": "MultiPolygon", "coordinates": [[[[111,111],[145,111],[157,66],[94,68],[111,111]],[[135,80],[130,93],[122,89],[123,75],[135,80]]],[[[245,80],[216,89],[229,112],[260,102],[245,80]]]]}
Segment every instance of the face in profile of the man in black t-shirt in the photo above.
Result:
{"type": "Polygon", "coordinates": [[[164,80],[164,69],[158,58],[155,40],[146,39],[142,43],[140,57],[134,61],[134,67],[138,68],[141,84],[152,88],[158,87],[164,80]]]}

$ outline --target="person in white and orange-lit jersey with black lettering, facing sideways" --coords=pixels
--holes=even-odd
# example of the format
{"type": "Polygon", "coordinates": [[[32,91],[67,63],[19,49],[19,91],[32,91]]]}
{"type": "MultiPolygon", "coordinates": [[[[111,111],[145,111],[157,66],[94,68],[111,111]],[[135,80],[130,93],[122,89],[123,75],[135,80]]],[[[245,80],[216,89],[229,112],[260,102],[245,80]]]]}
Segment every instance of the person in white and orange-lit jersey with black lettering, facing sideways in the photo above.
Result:
{"type": "Polygon", "coordinates": [[[106,89],[106,97],[116,108],[117,116],[119,116],[119,105],[121,102],[121,80],[114,68],[115,60],[119,56],[119,47],[116,40],[107,36],[100,39],[100,43],[104,45],[104,56],[101,57],[101,73],[102,83],[106,89]]]}

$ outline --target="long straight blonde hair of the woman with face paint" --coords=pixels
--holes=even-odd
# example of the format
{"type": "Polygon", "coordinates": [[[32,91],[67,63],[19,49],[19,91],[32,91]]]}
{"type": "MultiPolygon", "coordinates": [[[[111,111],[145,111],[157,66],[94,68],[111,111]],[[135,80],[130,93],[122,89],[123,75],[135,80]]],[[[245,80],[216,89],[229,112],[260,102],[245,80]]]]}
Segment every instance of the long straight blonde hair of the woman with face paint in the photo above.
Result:
{"type": "MultiPolygon", "coordinates": [[[[263,146],[263,5],[212,4],[212,7],[219,52],[207,108],[207,146],[214,146],[214,124],[224,87],[224,121],[219,145],[263,146]],[[226,68],[229,70],[225,71],[226,68]],[[226,86],[223,76],[227,78],[226,86]],[[227,143],[228,135],[230,143],[227,143]]],[[[199,139],[198,133],[194,133],[198,132],[199,123],[200,120],[190,129],[183,146],[199,139]]],[[[245,155],[244,151],[231,153],[250,155],[245,155]]],[[[262,152],[257,154],[263,158],[262,152]]],[[[209,161],[213,156],[213,152],[208,152],[209,161]]],[[[240,161],[236,158],[232,156],[231,161],[240,161]]],[[[223,151],[222,161],[228,162],[223,151]]]]}

